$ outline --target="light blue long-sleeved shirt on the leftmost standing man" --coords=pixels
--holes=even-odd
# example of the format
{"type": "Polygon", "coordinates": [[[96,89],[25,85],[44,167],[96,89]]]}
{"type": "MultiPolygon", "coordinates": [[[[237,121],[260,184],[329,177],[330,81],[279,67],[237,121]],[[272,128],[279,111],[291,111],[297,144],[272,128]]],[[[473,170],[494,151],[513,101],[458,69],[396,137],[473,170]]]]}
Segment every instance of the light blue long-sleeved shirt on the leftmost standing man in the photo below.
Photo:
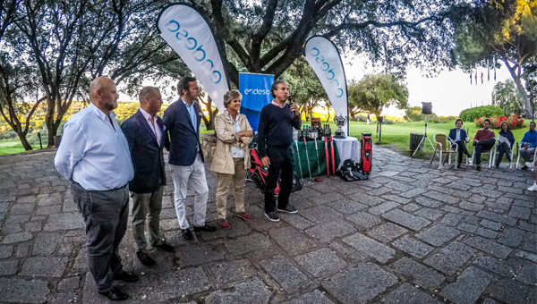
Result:
{"type": "Polygon", "coordinates": [[[59,173],[85,190],[113,190],[132,180],[129,145],[110,112],[110,119],[97,106],[72,115],[54,163],[59,173]],[[114,128],[110,121],[114,124],[114,128]]]}

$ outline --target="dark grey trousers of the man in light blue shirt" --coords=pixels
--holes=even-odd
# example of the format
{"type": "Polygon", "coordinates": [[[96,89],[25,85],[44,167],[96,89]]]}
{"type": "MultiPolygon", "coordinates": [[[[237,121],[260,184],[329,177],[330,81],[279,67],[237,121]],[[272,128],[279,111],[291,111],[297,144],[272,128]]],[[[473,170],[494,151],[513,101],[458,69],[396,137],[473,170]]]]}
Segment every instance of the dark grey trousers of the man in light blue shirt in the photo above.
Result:
{"type": "Polygon", "coordinates": [[[85,190],[76,182],[72,198],[86,224],[88,266],[98,291],[112,288],[113,275],[123,273],[119,243],[127,231],[129,186],[106,191],[85,190]]]}

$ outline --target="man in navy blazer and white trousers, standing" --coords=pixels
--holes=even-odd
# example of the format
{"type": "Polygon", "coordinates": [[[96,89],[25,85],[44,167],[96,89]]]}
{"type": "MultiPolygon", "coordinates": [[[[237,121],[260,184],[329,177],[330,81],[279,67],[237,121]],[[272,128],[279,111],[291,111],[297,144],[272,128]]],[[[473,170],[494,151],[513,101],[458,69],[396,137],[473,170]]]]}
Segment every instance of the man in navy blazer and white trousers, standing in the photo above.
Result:
{"type": "Polygon", "coordinates": [[[170,153],[168,163],[174,180],[175,212],[183,238],[193,240],[186,220],[184,200],[188,185],[196,192],[194,199],[194,231],[215,232],[217,229],[205,224],[209,187],[203,166],[203,153],[200,144],[200,106],[195,102],[200,89],[193,77],[183,77],[177,83],[179,100],[168,106],[164,112],[164,125],[170,134],[170,153]]]}

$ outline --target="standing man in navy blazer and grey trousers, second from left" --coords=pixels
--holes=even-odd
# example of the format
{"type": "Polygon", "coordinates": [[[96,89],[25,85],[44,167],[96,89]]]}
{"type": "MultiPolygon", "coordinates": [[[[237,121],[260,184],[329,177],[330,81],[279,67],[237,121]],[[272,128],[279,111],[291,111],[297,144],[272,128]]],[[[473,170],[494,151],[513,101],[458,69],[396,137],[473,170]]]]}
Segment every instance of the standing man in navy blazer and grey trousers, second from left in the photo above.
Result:
{"type": "Polygon", "coordinates": [[[144,87],[138,96],[140,109],[121,125],[131,152],[134,178],[129,182],[132,197],[132,234],[138,250],[136,256],[141,264],[157,266],[149,257],[144,230],[146,217],[149,227],[149,243],[155,249],[173,251],[162,241],[159,234],[162,194],[166,185],[164,154],[169,148],[164,132],[164,122],[158,117],[162,97],[155,87],[144,87]]]}

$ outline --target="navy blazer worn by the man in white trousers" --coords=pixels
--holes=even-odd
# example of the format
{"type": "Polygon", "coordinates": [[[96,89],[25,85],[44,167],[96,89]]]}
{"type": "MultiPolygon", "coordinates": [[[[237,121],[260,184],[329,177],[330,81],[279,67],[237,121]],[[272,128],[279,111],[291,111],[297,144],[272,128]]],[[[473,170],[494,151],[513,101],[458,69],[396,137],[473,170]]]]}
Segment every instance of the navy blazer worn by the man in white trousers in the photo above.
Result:
{"type": "Polygon", "coordinates": [[[197,121],[196,130],[192,127],[192,120],[183,100],[175,101],[164,111],[162,120],[166,126],[166,133],[170,134],[170,153],[168,156],[170,165],[192,165],[198,152],[200,152],[203,161],[200,144],[201,110],[197,103],[194,103],[194,112],[197,121]]]}

